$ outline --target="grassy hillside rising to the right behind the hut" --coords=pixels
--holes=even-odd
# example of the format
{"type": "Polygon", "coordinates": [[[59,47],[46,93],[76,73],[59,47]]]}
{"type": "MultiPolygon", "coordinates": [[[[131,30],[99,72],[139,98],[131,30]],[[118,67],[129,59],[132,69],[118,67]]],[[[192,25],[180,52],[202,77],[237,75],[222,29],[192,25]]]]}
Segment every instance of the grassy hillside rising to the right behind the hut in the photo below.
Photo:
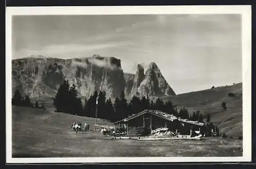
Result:
{"type": "Polygon", "coordinates": [[[200,110],[205,118],[210,114],[211,122],[217,124],[221,132],[225,132],[228,136],[242,135],[242,83],[176,96],[164,96],[162,99],[164,102],[172,101],[177,108],[186,107],[190,113],[200,110]],[[235,96],[228,96],[230,92],[235,96]],[[226,102],[227,110],[221,107],[222,102],[226,102]]]}

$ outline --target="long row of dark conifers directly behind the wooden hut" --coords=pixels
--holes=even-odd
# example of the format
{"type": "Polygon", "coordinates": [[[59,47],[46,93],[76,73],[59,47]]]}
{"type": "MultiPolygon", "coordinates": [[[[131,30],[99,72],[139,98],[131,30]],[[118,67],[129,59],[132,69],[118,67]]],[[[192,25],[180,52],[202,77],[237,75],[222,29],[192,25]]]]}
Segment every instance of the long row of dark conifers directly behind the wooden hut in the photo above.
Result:
{"type": "Polygon", "coordinates": [[[153,102],[148,95],[142,96],[141,99],[134,95],[131,101],[127,102],[124,92],[122,91],[120,96],[116,97],[113,103],[111,98],[106,98],[105,91],[94,91],[90,98],[84,99],[82,103],[81,98],[78,98],[77,94],[76,86],[74,84],[70,85],[69,81],[65,80],[60,85],[58,92],[53,99],[56,112],[95,117],[97,109],[98,118],[108,119],[115,122],[119,119],[126,118],[129,115],[148,109],[160,110],[183,119],[203,122],[203,115],[200,111],[193,112],[189,115],[187,109],[181,108],[180,110],[177,110],[177,108],[175,108],[176,106],[173,105],[171,101],[163,102],[162,99],[157,98],[156,102],[153,102]]]}

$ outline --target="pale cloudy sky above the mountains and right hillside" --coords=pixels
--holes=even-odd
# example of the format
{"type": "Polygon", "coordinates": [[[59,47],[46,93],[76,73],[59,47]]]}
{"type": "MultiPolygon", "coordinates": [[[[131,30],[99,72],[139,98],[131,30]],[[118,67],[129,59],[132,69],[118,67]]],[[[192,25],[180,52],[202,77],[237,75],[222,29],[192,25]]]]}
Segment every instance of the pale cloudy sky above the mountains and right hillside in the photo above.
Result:
{"type": "Polygon", "coordinates": [[[112,56],[155,62],[176,94],[242,82],[239,14],[13,16],[12,59],[112,56]]]}

